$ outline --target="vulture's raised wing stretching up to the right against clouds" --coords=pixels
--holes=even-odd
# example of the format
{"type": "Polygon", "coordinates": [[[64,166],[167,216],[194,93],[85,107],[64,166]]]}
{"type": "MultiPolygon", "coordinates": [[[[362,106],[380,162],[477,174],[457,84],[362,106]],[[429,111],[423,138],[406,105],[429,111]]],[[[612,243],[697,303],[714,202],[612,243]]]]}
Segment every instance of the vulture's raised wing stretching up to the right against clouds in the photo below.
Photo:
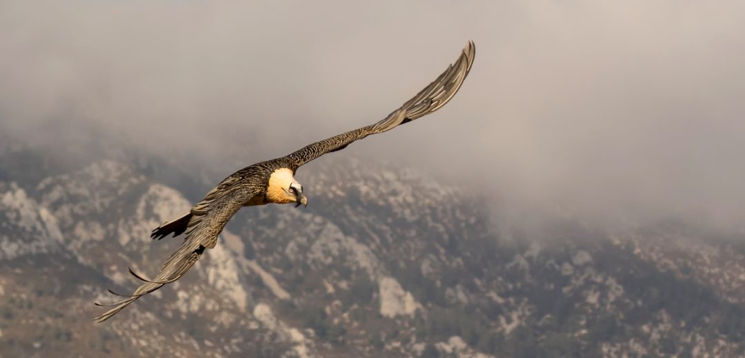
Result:
{"type": "Polygon", "coordinates": [[[463,84],[463,80],[466,79],[466,76],[471,70],[475,51],[474,43],[469,42],[466,48],[463,48],[460,57],[458,57],[455,63],[449,65],[448,69],[443,74],[440,74],[440,77],[437,77],[437,80],[434,80],[429,86],[416,94],[414,98],[406,101],[399,109],[393,111],[382,121],[310,144],[290,154],[288,158],[296,164],[297,168],[326,153],[342,150],[353,141],[365,138],[367,135],[392,130],[399,126],[399,124],[408,123],[440,109],[460,89],[460,85],[463,84]]]}

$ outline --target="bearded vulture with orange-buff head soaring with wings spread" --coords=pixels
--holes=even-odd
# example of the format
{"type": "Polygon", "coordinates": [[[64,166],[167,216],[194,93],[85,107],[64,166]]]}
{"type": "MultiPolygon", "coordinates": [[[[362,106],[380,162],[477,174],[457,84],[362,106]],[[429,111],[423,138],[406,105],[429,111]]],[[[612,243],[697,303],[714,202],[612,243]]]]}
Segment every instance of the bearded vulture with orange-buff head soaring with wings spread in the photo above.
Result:
{"type": "Polygon", "coordinates": [[[124,297],[124,300],[113,304],[96,303],[97,306],[113,308],[94,320],[104,322],[137,298],[181,278],[199,260],[204,249],[215,247],[218,243],[218,234],[240,208],[272,202],[295,203],[296,207],[301,204],[308,205],[308,199],[302,193],[302,185],[294,178],[298,167],[326,153],[343,150],[353,141],[392,130],[400,124],[408,123],[445,106],[469,74],[475,51],[474,43],[469,42],[455,63],[449,65],[434,82],[382,121],[318,141],[288,156],[244,167],[228,176],[191,210],[174,220],[162,223],[153,230],[150,235],[153,239],[160,240],[168,234],[174,234],[174,237],[186,234],[186,237],[177,252],[165,260],[159,274],[152,281],[130,268],[130,273],[143,281],[143,284],[132,295],[119,295],[109,290],[114,295],[124,297]]]}

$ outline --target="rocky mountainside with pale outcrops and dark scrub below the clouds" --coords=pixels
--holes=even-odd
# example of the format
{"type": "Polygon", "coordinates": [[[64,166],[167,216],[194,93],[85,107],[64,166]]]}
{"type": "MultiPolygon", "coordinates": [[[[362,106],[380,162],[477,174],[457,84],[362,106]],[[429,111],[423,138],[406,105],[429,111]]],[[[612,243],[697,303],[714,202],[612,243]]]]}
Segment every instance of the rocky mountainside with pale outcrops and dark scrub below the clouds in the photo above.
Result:
{"type": "Polygon", "coordinates": [[[127,266],[155,275],[181,239],[150,230],[209,185],[172,188],[107,159],[23,185],[8,170],[0,356],[745,354],[742,237],[564,220],[555,240],[506,240],[465,189],[324,160],[299,172],[308,208],[242,210],[182,280],[101,325],[92,302],[136,287],[127,266]]]}

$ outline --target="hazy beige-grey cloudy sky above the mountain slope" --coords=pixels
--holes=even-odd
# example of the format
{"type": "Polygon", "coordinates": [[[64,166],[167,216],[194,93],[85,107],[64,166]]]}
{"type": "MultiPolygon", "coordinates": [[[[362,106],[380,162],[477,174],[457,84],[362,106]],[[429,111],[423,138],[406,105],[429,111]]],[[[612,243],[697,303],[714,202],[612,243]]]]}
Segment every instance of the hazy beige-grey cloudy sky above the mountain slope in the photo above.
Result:
{"type": "Polygon", "coordinates": [[[378,121],[471,39],[451,103],[340,153],[500,208],[743,229],[744,18],[743,1],[0,0],[0,124],[248,165],[378,121]]]}

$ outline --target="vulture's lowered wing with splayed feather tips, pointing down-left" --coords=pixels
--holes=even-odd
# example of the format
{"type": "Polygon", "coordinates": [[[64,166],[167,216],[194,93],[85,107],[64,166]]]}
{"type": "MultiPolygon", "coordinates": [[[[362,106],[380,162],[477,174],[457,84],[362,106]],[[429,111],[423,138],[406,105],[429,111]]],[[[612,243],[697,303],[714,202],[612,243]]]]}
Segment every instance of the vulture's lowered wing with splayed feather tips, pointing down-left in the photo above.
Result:
{"type": "MultiPolygon", "coordinates": [[[[123,301],[114,304],[96,304],[97,306],[115,306],[111,310],[95,318],[96,322],[104,322],[110,319],[124,307],[131,304],[137,298],[158,290],[164,284],[170,284],[181,278],[194,263],[199,260],[204,249],[212,249],[218,242],[218,234],[223,230],[230,218],[238,212],[247,197],[258,194],[259,190],[250,190],[240,185],[240,179],[229,177],[207,196],[194,205],[191,209],[191,219],[186,228],[186,238],[177,252],[174,252],[165,261],[160,273],[152,281],[136,274],[132,269],[130,273],[144,283],[135,290],[132,295],[120,295],[125,297],[123,301]]],[[[109,290],[110,293],[119,295],[109,290]]]]}

